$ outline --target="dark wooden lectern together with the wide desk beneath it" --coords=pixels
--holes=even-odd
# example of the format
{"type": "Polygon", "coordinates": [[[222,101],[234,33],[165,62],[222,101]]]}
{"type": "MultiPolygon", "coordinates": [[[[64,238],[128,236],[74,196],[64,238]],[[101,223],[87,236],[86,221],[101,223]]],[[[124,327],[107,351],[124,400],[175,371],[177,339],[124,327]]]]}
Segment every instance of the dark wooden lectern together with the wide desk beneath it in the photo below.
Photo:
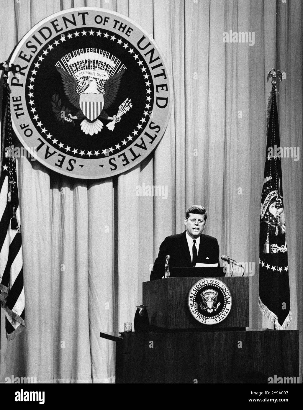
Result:
{"type": "Polygon", "coordinates": [[[248,280],[168,278],[144,282],[142,299],[148,306],[150,331],[100,333],[116,342],[116,383],[268,383],[275,375],[298,377],[296,330],[246,329],[248,280]],[[219,291],[209,285],[219,282],[230,292],[230,311],[218,323],[200,323],[199,315],[192,313],[194,307],[214,317],[218,306],[224,307],[219,291]],[[191,299],[193,288],[198,289],[197,296],[191,299]]]}

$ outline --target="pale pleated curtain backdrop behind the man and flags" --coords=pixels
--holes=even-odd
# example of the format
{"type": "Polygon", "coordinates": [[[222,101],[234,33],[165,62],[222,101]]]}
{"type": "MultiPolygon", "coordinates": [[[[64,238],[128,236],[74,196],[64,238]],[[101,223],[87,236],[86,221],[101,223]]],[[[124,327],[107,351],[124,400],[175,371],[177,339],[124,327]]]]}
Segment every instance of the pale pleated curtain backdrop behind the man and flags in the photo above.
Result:
{"type": "MultiPolygon", "coordinates": [[[[152,34],[171,70],[174,104],[152,156],[118,177],[84,181],[18,159],[26,330],[5,339],[1,373],[38,383],[112,383],[114,342],[142,302],[142,282],[164,237],[184,230],[185,209],[208,210],[205,233],[220,252],[255,263],[250,326],[269,327],[257,306],[260,198],[266,148],[266,75],[278,85],[281,146],[302,152],[300,0],[2,0],[0,61],[41,19],[71,7],[103,7],[152,34]],[[254,44],[223,33],[254,33],[254,44]],[[167,196],[137,196],[161,185],[167,196]]],[[[293,319],[302,331],[302,160],[282,160],[293,319]]],[[[273,351],[274,354],[274,351],[273,351]]]]}

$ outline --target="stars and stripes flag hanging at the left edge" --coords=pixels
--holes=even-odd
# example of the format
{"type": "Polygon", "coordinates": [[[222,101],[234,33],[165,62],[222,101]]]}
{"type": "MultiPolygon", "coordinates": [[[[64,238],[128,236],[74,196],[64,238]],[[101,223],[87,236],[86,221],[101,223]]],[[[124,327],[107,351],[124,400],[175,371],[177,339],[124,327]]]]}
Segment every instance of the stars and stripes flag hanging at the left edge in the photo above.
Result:
{"type": "Polygon", "coordinates": [[[4,86],[0,171],[0,305],[6,312],[8,340],[25,328],[20,210],[12,146],[9,87],[4,86]]]}

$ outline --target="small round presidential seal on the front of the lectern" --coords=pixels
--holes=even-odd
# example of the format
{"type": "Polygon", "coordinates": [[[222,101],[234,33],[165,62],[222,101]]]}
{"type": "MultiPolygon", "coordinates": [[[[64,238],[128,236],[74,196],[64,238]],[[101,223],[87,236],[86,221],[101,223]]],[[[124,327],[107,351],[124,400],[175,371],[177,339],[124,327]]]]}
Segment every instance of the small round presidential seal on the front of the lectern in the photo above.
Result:
{"type": "Polygon", "coordinates": [[[205,325],[220,323],[228,316],[232,297],[228,287],[216,278],[201,279],[188,294],[188,306],[196,320],[205,325]]]}

